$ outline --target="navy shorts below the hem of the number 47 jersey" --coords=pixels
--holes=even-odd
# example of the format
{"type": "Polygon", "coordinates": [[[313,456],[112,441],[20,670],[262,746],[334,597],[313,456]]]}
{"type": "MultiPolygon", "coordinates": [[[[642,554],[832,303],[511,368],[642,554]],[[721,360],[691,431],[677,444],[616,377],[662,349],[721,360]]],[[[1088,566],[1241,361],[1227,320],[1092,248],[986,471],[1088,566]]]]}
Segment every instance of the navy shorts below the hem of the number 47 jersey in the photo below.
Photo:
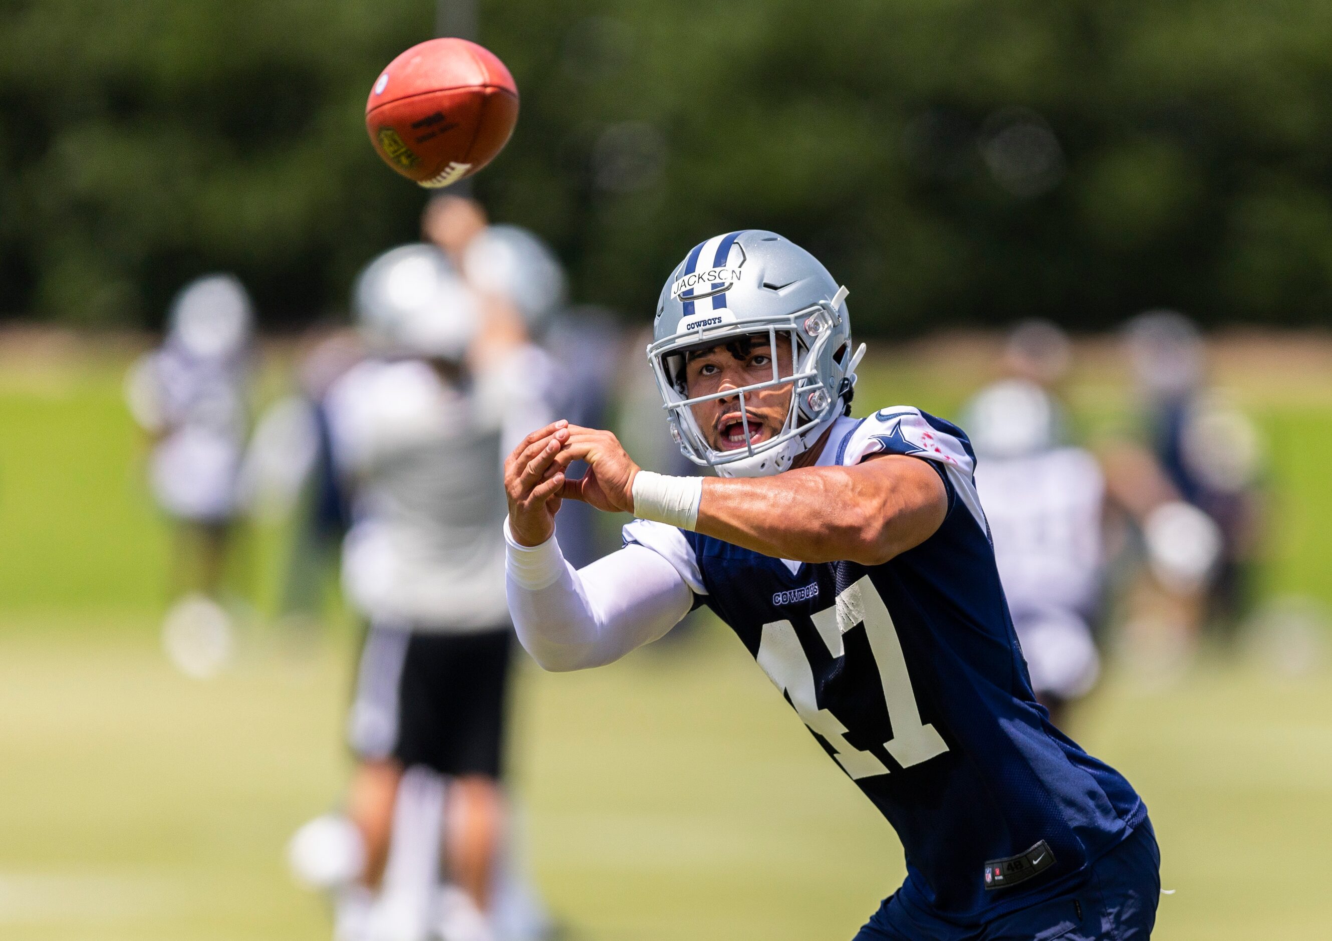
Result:
{"type": "Polygon", "coordinates": [[[960,928],[884,900],[855,941],[1147,941],[1160,901],[1160,849],[1151,821],[1092,864],[1068,892],[1010,912],[980,928],[960,928]]]}

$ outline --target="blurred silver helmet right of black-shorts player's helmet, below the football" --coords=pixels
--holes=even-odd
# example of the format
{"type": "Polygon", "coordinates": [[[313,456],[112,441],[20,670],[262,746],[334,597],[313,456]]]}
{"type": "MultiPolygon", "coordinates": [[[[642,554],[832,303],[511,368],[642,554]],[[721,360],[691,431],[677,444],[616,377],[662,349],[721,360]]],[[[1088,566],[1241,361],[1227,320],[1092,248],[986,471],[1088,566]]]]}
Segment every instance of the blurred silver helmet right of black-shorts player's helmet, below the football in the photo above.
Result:
{"type": "Polygon", "coordinates": [[[531,333],[565,303],[565,269],[541,239],[517,225],[490,225],[462,253],[462,273],[477,291],[507,297],[531,333]]]}

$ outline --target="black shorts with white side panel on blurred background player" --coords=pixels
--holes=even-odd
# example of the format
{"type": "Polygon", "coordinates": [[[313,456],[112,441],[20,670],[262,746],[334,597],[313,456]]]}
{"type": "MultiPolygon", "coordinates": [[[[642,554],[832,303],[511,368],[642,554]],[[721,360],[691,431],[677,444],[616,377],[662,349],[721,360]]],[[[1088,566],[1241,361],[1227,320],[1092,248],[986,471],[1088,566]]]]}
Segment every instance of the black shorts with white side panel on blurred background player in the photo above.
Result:
{"type": "Polygon", "coordinates": [[[513,629],[372,626],[348,718],[352,750],[441,774],[500,777],[513,629]]]}

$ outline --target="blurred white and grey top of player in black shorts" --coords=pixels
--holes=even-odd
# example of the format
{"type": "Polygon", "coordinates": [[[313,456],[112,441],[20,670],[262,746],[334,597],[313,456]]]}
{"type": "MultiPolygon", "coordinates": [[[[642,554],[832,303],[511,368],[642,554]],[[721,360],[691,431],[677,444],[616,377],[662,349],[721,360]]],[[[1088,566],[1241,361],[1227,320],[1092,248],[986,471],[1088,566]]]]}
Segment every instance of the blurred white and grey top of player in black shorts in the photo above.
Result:
{"type": "Polygon", "coordinates": [[[368,360],[329,389],[333,457],[352,494],[342,580],[380,624],[503,625],[503,384],[461,389],[420,360],[368,360]]]}

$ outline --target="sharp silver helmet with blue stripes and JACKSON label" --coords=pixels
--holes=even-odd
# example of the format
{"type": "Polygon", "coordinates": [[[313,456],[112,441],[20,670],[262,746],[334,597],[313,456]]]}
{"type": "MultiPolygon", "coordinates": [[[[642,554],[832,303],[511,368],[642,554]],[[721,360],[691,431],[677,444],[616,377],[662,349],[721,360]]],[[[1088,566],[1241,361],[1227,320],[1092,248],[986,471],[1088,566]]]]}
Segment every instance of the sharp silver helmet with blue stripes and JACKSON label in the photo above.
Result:
{"type": "MultiPolygon", "coordinates": [[[[838,287],[818,259],[779,235],[747,229],[715,236],[695,245],[671,272],[653,323],[647,347],[671,435],[694,464],[717,468],[723,477],[779,473],[851,404],[855,367],[864,345],[852,355],[847,289],[838,287]],[[773,356],[773,376],[762,383],[690,397],[685,360],[691,349],[734,337],[766,335],[773,351],[791,349],[790,375],[781,375],[773,356]],[[694,407],[715,399],[739,399],[761,389],[791,385],[791,407],[781,432],[735,451],[717,451],[694,416],[694,407]]],[[[749,421],[745,420],[749,437],[749,421]]]]}

